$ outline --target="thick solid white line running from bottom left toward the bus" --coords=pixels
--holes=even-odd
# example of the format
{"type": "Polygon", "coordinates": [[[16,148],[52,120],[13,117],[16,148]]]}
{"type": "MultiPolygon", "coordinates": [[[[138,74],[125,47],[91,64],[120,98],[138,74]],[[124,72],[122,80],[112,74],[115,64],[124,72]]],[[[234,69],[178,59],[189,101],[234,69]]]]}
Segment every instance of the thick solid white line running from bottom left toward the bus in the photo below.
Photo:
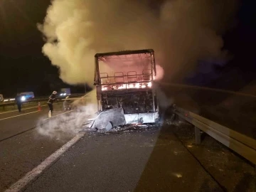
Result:
{"type": "Polygon", "coordinates": [[[77,136],[73,137],[73,139],[71,139],[68,143],[64,144],[60,149],[48,156],[48,158],[44,160],[40,165],[38,165],[32,171],[28,172],[26,176],[11,185],[11,187],[5,192],[18,192],[25,189],[28,184],[32,183],[36,180],[36,178],[41,176],[41,174],[43,174],[43,171],[48,169],[50,165],[53,164],[55,161],[58,161],[58,159],[60,159],[60,156],[64,154],[65,151],[67,151],[71,146],[73,146],[73,144],[78,142],[78,140],[81,139],[84,135],[85,133],[80,133],[77,136]]]}

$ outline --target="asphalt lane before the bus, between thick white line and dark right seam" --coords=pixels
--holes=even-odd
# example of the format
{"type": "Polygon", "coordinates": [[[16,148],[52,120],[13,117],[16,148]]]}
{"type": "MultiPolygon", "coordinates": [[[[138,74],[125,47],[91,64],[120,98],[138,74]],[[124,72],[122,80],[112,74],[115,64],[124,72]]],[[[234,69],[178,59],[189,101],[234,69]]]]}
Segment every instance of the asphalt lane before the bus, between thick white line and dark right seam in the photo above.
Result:
{"type": "Polygon", "coordinates": [[[166,128],[86,134],[26,191],[223,191],[166,128]]]}

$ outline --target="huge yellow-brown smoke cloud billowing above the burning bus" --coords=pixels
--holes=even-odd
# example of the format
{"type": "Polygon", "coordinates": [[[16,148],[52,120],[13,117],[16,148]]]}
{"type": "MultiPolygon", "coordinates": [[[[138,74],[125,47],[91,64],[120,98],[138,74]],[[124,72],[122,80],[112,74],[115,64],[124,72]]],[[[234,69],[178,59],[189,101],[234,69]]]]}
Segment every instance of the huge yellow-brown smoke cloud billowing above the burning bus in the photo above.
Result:
{"type": "Polygon", "coordinates": [[[92,85],[95,53],[145,48],[170,80],[198,59],[223,56],[221,34],[234,12],[234,0],[54,0],[38,28],[43,53],[69,84],[92,85]]]}

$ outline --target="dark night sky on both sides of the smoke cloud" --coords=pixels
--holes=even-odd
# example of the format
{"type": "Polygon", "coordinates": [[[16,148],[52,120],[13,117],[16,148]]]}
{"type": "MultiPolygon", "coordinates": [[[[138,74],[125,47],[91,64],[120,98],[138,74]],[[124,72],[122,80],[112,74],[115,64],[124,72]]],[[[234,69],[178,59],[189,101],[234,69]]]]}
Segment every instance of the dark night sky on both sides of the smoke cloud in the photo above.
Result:
{"type": "MultiPolygon", "coordinates": [[[[49,4],[50,0],[0,1],[0,94],[11,97],[16,92],[33,91],[35,95],[48,95],[52,90],[67,86],[58,78],[58,69],[41,51],[43,36],[36,23],[43,22],[49,4]]],[[[223,36],[224,48],[233,59],[225,65],[198,65],[196,73],[186,79],[186,83],[240,90],[255,80],[254,8],[255,0],[241,1],[235,28],[223,36]]]]}

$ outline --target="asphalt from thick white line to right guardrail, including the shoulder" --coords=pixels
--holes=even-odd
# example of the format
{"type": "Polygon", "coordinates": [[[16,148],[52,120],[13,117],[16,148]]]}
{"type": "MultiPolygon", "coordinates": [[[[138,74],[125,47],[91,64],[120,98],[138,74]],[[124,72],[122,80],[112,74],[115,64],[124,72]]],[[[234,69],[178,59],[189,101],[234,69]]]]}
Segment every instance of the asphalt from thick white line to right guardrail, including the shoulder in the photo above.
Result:
{"type": "Polygon", "coordinates": [[[252,166],[210,138],[195,156],[198,147],[193,142],[184,145],[176,133],[170,125],[116,134],[87,133],[25,191],[255,189],[252,166]]]}

